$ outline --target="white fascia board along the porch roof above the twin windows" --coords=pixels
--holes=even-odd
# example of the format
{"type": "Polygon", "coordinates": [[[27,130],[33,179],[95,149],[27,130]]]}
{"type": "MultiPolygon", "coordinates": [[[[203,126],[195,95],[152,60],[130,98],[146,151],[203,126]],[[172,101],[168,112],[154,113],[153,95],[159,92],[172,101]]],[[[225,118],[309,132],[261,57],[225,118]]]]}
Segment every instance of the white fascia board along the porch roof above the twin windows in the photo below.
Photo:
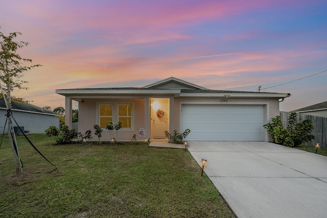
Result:
{"type": "Polygon", "coordinates": [[[57,94],[179,94],[178,89],[57,89],[57,94]]]}

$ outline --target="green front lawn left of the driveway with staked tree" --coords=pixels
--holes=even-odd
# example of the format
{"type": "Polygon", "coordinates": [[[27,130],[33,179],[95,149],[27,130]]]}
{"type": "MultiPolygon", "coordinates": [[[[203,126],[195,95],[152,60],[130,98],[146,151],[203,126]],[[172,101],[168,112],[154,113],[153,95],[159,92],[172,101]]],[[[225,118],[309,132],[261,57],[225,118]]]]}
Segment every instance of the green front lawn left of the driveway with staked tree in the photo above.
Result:
{"type": "Polygon", "coordinates": [[[18,136],[23,175],[8,138],[0,147],[0,217],[234,217],[191,154],[144,143],[55,146],[18,136]],[[7,140],[7,141],[6,141],[7,140]]]}

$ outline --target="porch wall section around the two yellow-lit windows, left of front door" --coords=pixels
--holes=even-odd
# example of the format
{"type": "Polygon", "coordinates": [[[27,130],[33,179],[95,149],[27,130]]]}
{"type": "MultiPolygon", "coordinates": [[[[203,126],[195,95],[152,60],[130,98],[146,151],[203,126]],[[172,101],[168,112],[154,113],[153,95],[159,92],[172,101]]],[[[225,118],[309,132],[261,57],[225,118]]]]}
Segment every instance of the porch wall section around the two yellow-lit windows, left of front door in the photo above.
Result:
{"type": "MultiPolygon", "coordinates": [[[[138,129],[145,128],[145,108],[144,108],[144,99],[131,99],[131,98],[119,98],[119,99],[84,99],[84,102],[79,103],[79,120],[78,120],[78,130],[84,134],[87,130],[92,131],[92,136],[94,140],[97,139],[97,136],[94,135],[95,124],[99,124],[98,119],[98,104],[99,103],[129,103],[133,104],[132,108],[132,129],[124,130],[120,129],[118,131],[117,139],[118,140],[131,140],[133,134],[136,134],[138,137],[138,129]]],[[[115,114],[113,114],[114,116],[115,114]]],[[[115,122],[113,122],[115,123],[115,122]]],[[[149,131],[149,130],[146,130],[149,131]]],[[[115,133],[114,133],[115,135],[115,133]]],[[[108,130],[103,129],[102,141],[110,141],[111,137],[108,130]]]]}

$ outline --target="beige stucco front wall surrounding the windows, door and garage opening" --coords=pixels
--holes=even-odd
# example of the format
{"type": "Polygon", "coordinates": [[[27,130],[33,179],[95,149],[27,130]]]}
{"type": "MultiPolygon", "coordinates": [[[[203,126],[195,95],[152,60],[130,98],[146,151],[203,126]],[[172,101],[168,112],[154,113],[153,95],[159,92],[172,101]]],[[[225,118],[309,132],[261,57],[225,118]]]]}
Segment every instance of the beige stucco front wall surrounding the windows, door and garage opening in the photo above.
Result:
{"type": "MultiPolygon", "coordinates": [[[[264,122],[271,122],[271,118],[279,115],[279,101],[278,99],[266,99],[266,98],[174,98],[173,95],[144,95],[137,96],[135,98],[111,98],[111,99],[83,99],[83,102],[79,102],[79,122],[78,129],[79,132],[85,133],[87,130],[92,131],[92,136],[94,140],[97,139],[97,136],[94,135],[95,124],[98,124],[98,104],[99,103],[132,103],[132,130],[119,130],[118,131],[118,140],[131,140],[133,134],[136,134],[138,137],[138,129],[146,128],[146,135],[150,136],[150,114],[149,108],[151,107],[149,99],[151,98],[170,98],[170,127],[169,132],[174,130],[180,130],[180,105],[182,103],[208,103],[208,104],[223,104],[223,105],[232,105],[232,104],[259,104],[264,106],[264,122]],[[224,102],[221,100],[228,100],[224,102]],[[149,108],[145,108],[145,105],[148,105],[149,108]],[[145,117],[145,114],[148,114],[148,117],[145,117]]],[[[265,140],[268,140],[268,135],[264,136],[265,140]]],[[[110,135],[106,129],[104,129],[102,134],[102,141],[111,140],[110,135]]]]}

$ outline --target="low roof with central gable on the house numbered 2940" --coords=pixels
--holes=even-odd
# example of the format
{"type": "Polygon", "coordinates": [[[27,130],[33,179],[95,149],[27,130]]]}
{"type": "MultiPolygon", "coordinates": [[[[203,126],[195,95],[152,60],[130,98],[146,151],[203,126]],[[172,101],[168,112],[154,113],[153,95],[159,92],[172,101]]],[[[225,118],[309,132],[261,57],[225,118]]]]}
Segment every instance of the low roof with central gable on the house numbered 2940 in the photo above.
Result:
{"type": "Polygon", "coordinates": [[[255,91],[227,91],[212,90],[193,83],[189,83],[174,77],[167,78],[141,88],[125,87],[125,88],[77,88],[77,89],[56,89],[57,94],[64,96],[75,96],[82,98],[82,95],[119,95],[119,94],[174,94],[175,96],[212,96],[226,97],[235,96],[241,98],[247,97],[271,97],[271,98],[287,98],[290,93],[274,93],[274,92],[255,92],[255,91]]]}

